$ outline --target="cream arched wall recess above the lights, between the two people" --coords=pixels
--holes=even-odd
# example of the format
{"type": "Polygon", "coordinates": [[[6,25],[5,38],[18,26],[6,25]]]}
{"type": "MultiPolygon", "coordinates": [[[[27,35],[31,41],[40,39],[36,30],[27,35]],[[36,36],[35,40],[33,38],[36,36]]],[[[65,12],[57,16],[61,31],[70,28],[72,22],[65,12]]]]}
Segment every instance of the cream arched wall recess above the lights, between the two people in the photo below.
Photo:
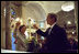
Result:
{"type": "Polygon", "coordinates": [[[27,24],[27,18],[32,18],[36,22],[40,22],[46,19],[46,12],[40,3],[26,2],[26,4],[22,7],[22,18],[24,24],[27,24]]]}

